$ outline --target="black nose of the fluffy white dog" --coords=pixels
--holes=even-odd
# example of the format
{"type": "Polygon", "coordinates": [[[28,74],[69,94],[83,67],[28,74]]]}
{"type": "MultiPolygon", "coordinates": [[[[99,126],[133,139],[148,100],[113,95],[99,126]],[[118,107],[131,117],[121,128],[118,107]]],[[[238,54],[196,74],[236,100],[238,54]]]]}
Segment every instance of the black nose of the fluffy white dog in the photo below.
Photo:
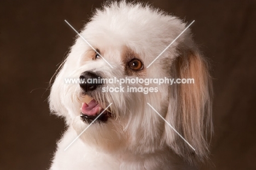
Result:
{"type": "Polygon", "coordinates": [[[94,72],[86,71],[80,75],[80,87],[85,91],[93,91],[98,86],[102,85],[100,75],[94,72]]]}

